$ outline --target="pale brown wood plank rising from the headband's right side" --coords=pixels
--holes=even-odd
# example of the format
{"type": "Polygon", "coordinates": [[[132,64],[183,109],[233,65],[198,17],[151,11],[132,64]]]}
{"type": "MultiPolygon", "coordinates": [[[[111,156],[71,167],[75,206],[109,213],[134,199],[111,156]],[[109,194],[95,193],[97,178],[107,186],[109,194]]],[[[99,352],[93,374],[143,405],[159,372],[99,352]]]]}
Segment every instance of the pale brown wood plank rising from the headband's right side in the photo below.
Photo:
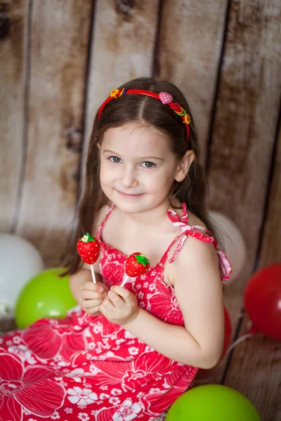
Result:
{"type": "Polygon", "coordinates": [[[227,0],[163,1],[155,74],[186,95],[205,163],[227,0]]]}

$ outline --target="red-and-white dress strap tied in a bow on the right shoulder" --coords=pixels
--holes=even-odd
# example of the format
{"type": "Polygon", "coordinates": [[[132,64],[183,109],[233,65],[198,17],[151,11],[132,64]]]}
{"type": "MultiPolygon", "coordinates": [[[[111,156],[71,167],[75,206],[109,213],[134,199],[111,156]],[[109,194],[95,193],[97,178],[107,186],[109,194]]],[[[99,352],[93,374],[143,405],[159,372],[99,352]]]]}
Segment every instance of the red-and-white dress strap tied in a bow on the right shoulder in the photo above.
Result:
{"type": "Polygon", "coordinates": [[[180,227],[182,232],[176,236],[176,238],[171,242],[169,248],[164,253],[160,263],[164,265],[166,259],[168,258],[169,252],[171,247],[180,239],[178,242],[172,257],[169,259],[169,263],[174,262],[176,260],[176,256],[180,253],[181,249],[183,248],[183,244],[185,240],[188,238],[188,235],[195,237],[195,239],[204,241],[205,243],[214,243],[214,247],[216,248],[216,253],[218,254],[218,261],[219,261],[219,272],[221,275],[221,281],[226,281],[229,278],[232,269],[230,266],[230,262],[226,257],[223,251],[219,250],[218,248],[218,241],[212,236],[209,229],[205,227],[201,227],[200,225],[188,225],[188,211],[186,209],[185,203],[183,203],[183,217],[180,218],[178,214],[174,210],[168,210],[167,215],[169,220],[171,220],[172,224],[175,227],[180,227]],[[200,232],[198,232],[200,230],[200,232]]]}

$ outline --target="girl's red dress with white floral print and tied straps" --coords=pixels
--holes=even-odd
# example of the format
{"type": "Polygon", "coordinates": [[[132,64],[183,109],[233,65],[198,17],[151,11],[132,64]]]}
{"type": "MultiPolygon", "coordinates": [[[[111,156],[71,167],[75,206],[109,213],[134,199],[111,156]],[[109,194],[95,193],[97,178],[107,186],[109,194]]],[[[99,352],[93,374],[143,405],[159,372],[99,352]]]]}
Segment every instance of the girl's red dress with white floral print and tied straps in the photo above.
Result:
{"type": "MultiPolygon", "coordinates": [[[[127,282],[126,288],[143,309],[167,323],[183,325],[174,289],[163,281],[173,244],[177,246],[169,262],[192,235],[214,243],[222,281],[231,269],[209,232],[188,225],[184,204],[182,220],[172,210],[168,216],[181,232],[160,262],[127,282]]],[[[112,286],[122,283],[127,256],[103,243],[105,221],[97,234],[100,274],[112,286]]],[[[196,373],[197,368],[159,354],[105,316],[89,316],[75,307],[66,319],[41,319],[0,338],[0,420],[152,421],[185,392],[196,373]]]]}

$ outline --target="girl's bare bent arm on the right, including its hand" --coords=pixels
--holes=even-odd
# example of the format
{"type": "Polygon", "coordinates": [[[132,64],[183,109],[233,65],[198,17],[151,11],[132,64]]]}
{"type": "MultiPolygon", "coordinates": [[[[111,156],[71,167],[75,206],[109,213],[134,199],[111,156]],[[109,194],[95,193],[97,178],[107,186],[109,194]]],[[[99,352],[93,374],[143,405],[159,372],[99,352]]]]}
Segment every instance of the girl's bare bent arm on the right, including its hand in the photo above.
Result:
{"type": "MultiPolygon", "coordinates": [[[[211,244],[188,237],[169,270],[185,327],[166,323],[140,309],[134,295],[118,286],[108,293],[116,307],[120,300],[119,322],[117,319],[112,321],[170,359],[211,368],[221,356],[224,333],[223,294],[216,250],[211,244]],[[130,306],[131,311],[127,309],[130,306]]],[[[110,311],[109,304],[108,299],[105,300],[101,311],[110,311]]]]}

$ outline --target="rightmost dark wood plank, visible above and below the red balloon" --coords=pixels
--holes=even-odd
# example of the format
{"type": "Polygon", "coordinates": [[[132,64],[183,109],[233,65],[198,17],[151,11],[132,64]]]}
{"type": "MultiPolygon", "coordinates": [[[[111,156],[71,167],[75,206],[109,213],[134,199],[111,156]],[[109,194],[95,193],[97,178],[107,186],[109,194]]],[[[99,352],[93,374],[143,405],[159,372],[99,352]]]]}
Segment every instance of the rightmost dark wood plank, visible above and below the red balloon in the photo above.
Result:
{"type": "MultiPolygon", "coordinates": [[[[258,267],[281,260],[281,131],[277,138],[273,159],[273,176],[270,180],[266,222],[263,229],[258,267]]],[[[239,336],[247,332],[248,318],[244,316],[239,336]]],[[[254,335],[241,342],[230,358],[230,366],[224,384],[239,390],[254,403],[262,420],[281,419],[280,383],[281,344],[263,335],[254,335]]]]}

